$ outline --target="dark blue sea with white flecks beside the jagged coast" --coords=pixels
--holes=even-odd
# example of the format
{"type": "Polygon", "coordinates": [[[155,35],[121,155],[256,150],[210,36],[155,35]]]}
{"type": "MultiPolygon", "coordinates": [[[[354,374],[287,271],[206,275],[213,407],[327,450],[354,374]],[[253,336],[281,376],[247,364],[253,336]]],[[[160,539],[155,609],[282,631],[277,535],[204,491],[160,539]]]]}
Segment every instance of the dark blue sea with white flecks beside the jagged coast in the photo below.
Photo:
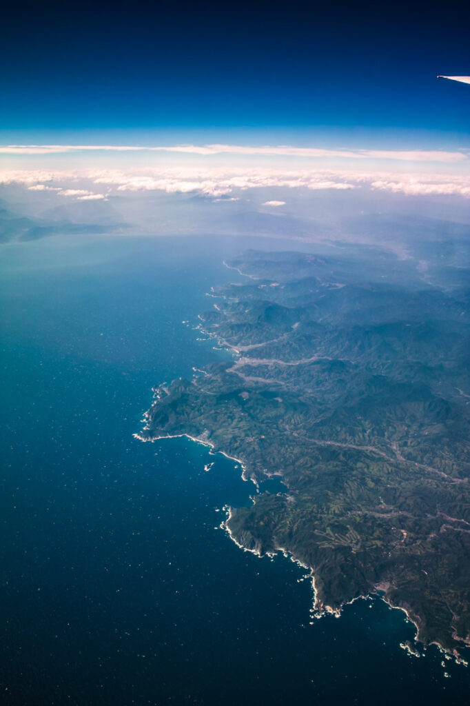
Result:
{"type": "Polygon", "coordinates": [[[445,678],[435,648],[408,657],[412,626],[378,600],[308,624],[302,571],[217,528],[253,493],[234,462],[132,437],[152,385],[224,355],[181,321],[236,277],[222,260],[244,245],[1,250],[2,703],[466,702],[469,671],[445,678]]]}

